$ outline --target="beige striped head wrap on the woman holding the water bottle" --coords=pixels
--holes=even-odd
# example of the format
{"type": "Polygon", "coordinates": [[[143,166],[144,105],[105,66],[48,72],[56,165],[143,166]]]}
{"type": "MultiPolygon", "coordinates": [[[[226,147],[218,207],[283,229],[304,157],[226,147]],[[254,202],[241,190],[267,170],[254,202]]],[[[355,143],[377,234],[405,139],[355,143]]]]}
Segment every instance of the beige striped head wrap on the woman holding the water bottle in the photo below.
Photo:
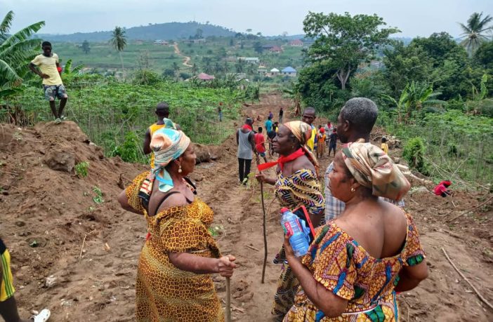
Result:
{"type": "Polygon", "coordinates": [[[407,167],[393,163],[379,147],[360,139],[344,145],[342,154],[355,180],[372,189],[374,196],[397,201],[409,191],[411,185],[403,173],[407,167]]]}

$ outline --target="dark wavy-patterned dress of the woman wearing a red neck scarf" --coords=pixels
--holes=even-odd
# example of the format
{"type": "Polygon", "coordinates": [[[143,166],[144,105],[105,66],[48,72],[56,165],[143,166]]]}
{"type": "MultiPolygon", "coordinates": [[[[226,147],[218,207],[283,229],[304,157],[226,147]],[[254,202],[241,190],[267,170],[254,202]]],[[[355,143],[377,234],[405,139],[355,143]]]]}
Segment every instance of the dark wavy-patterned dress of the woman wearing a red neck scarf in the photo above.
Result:
{"type": "MultiPolygon", "coordinates": [[[[320,188],[320,182],[313,170],[301,169],[287,177],[284,177],[281,172],[277,173],[275,195],[279,199],[281,206],[290,210],[305,206],[310,215],[324,213],[324,196],[320,188]]],[[[294,295],[296,295],[299,286],[298,279],[296,279],[291,267],[285,260],[284,248],[281,248],[274,260],[276,264],[282,263],[282,273],[277,281],[277,290],[272,307],[272,314],[278,320],[281,320],[293,306],[294,295]]]]}

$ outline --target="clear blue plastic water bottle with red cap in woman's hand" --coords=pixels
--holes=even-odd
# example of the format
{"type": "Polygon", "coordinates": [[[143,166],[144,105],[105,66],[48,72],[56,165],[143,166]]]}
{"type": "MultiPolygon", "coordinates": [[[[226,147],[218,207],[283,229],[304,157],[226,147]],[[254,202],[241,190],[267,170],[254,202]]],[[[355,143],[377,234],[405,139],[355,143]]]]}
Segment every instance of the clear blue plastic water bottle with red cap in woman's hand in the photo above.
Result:
{"type": "Polygon", "coordinates": [[[281,209],[282,219],[281,224],[284,229],[284,234],[290,234],[289,243],[294,250],[294,255],[300,257],[308,253],[308,228],[305,221],[300,219],[294,213],[291,213],[288,208],[281,209]]]}

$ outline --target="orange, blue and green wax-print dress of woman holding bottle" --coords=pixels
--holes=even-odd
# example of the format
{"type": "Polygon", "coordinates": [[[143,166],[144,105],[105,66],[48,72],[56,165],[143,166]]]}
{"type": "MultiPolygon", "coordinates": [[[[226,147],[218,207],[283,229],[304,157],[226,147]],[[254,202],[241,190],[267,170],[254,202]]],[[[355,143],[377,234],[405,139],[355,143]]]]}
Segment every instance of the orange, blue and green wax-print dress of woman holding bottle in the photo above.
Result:
{"type": "Polygon", "coordinates": [[[414,266],[425,257],[411,215],[407,217],[407,237],[401,253],[376,259],[333,221],[317,229],[315,241],[301,262],[327,290],[348,300],[346,312],[328,318],[313,305],[300,288],[296,303],[284,321],[399,321],[394,288],[399,271],[414,266]]]}

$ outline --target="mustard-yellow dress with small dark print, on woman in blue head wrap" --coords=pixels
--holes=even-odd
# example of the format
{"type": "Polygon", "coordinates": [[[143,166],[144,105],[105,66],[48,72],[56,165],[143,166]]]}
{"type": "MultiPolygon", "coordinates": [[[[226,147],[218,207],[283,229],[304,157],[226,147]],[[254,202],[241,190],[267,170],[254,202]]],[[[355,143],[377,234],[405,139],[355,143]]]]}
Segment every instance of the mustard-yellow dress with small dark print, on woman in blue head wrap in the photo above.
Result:
{"type": "Polygon", "coordinates": [[[224,321],[211,274],[183,271],[168,257],[170,252],[220,257],[208,230],[213,211],[195,198],[188,206],[147,215],[137,196],[147,174],[139,175],[126,188],[129,205],[143,211],[151,235],[138,261],[136,321],[224,321]]]}

